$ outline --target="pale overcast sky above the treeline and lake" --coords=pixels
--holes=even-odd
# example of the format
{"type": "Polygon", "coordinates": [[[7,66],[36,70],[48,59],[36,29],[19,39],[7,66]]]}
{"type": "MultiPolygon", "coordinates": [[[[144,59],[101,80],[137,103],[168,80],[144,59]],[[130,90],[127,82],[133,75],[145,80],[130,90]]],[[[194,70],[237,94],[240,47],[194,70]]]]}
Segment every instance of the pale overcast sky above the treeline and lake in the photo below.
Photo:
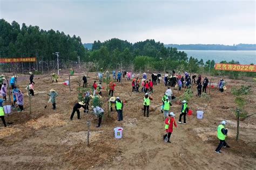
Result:
{"type": "Polygon", "coordinates": [[[0,18],[79,36],[164,44],[256,44],[253,1],[0,0],[0,18]]]}

